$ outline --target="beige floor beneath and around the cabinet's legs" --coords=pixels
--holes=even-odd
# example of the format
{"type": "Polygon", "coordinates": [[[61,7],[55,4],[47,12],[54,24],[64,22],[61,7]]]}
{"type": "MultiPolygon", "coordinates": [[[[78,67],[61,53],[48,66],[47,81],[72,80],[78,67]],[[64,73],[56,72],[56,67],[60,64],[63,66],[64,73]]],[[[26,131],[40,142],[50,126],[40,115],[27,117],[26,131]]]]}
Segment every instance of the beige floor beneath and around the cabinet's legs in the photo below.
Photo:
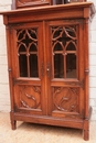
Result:
{"type": "Polygon", "coordinates": [[[96,122],[90,122],[89,141],[76,129],[18,122],[12,131],[9,113],[0,112],[0,143],[96,143],[96,122]]]}

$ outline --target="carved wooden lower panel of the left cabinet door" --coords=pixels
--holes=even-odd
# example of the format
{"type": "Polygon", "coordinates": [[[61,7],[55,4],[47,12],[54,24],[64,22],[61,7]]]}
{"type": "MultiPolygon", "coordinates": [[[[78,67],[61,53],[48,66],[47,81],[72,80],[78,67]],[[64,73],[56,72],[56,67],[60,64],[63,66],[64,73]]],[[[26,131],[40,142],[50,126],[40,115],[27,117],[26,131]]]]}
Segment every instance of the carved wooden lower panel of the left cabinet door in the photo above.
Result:
{"type": "Polygon", "coordinates": [[[20,108],[41,109],[41,88],[24,86],[20,89],[20,108]]]}

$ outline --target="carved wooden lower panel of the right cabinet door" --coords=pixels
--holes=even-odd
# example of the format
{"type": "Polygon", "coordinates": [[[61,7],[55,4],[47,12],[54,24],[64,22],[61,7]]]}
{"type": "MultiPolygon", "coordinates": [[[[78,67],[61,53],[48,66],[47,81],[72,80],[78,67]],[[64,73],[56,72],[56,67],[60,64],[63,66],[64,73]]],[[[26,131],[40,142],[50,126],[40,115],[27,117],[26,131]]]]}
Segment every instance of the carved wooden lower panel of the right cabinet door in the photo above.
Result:
{"type": "Polygon", "coordinates": [[[54,110],[64,112],[77,112],[78,88],[55,87],[53,89],[54,110]]]}

